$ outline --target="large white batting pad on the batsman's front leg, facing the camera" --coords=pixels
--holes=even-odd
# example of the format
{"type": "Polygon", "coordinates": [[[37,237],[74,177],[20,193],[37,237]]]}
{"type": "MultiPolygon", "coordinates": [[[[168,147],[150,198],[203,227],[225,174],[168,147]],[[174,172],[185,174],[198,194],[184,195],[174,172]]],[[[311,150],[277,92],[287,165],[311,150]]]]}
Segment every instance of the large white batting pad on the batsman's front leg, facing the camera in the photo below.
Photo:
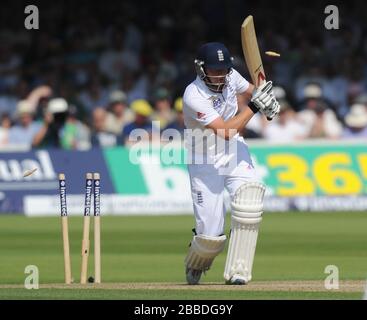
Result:
{"type": "Polygon", "coordinates": [[[238,188],[233,200],[232,228],[229,240],[224,279],[232,277],[251,281],[257,235],[263,212],[265,186],[247,182],[238,188]]]}

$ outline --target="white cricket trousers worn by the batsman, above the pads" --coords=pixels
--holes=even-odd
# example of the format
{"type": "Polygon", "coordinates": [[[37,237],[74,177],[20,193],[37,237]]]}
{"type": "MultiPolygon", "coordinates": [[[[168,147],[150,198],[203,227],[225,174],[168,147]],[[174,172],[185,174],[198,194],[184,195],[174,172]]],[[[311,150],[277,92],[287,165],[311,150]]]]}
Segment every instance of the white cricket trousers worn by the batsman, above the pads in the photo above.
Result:
{"type": "Polygon", "coordinates": [[[228,168],[216,168],[214,164],[188,164],[197,234],[224,234],[225,189],[232,199],[243,183],[259,181],[243,138],[237,140],[236,151],[228,168]]]}

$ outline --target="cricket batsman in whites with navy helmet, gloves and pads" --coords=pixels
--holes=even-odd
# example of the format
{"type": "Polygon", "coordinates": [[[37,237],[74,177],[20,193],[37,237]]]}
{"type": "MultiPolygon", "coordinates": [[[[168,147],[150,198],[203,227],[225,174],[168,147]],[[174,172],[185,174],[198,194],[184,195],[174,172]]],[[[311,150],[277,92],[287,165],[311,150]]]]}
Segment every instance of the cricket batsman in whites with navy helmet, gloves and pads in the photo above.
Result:
{"type": "Polygon", "coordinates": [[[194,62],[197,77],[183,96],[196,220],[185,258],[186,280],[191,285],[199,283],[202,273],[209,270],[225,247],[225,189],[231,198],[232,222],[224,279],[234,285],[251,280],[265,186],[259,181],[248,147],[238,132],[256,112],[273,119],[279,113],[279,103],[271,81],[255,89],[233,68],[232,60],[222,43],[201,46],[194,62]],[[248,101],[240,112],[238,95],[248,101]],[[203,133],[202,139],[197,132],[203,133]]]}

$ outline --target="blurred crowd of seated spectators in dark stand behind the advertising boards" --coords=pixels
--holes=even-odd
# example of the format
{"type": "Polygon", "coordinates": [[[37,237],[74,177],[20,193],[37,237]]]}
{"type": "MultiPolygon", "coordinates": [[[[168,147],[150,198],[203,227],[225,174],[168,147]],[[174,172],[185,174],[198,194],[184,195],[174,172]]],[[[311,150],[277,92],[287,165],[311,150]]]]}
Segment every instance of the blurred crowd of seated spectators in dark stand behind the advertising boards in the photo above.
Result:
{"type": "Polygon", "coordinates": [[[256,115],[242,134],[367,138],[367,4],[336,1],[340,29],[327,30],[325,6],[292,3],[42,2],[39,30],[24,28],[25,2],[10,3],[11,14],[0,13],[0,147],[123,145],[152,121],[182,132],[181,96],[202,43],[224,42],[250,79],[240,41],[248,14],[262,51],[281,53],[263,59],[282,108],[271,122],[256,115]]]}

